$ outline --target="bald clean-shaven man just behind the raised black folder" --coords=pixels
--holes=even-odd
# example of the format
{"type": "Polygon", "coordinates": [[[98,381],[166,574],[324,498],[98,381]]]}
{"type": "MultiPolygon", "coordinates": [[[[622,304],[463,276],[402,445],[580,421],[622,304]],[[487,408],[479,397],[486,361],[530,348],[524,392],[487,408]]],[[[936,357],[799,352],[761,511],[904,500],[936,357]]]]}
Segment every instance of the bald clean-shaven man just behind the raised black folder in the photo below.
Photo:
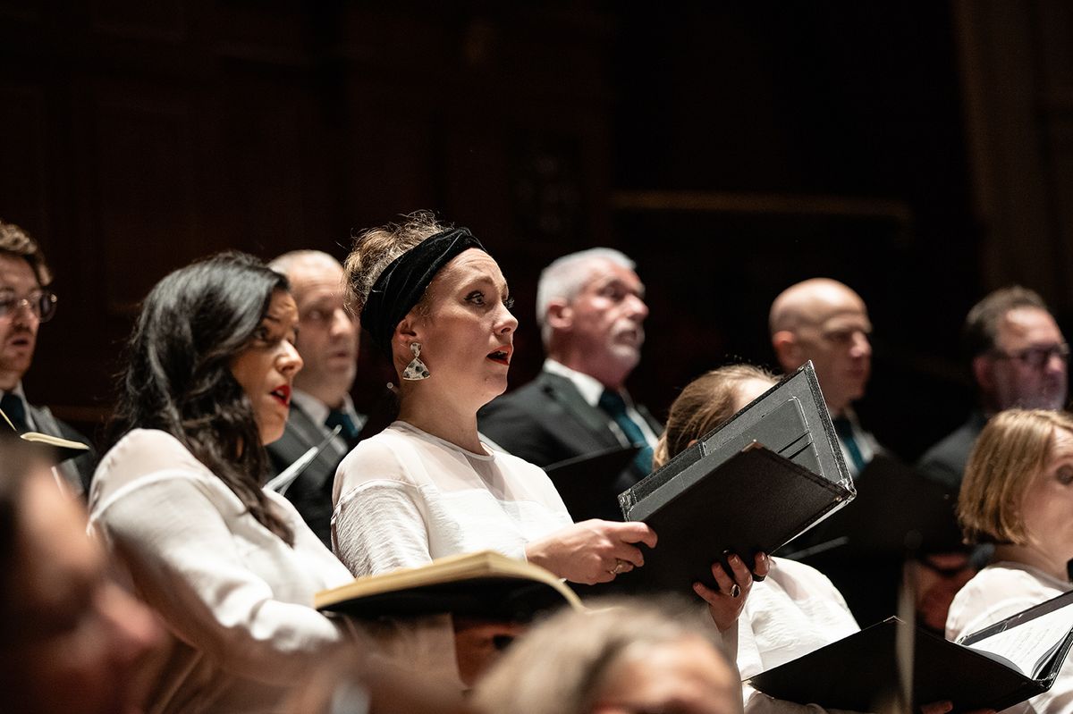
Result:
{"type": "Polygon", "coordinates": [[[852,408],[864,397],[871,373],[871,322],[864,300],[836,280],[813,278],[775,298],[769,327],[771,346],[785,372],[812,360],[846,465],[856,478],[880,450],[852,408]]]}

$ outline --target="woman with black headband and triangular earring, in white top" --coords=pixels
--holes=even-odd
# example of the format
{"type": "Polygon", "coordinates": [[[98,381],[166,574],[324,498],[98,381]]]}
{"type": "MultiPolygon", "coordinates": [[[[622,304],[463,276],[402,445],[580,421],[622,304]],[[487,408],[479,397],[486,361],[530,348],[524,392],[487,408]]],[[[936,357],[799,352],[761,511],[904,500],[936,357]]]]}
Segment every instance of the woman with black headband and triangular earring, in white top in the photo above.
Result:
{"type": "MultiPolygon", "coordinates": [[[[411,214],[357,236],[344,272],[349,303],[400,377],[397,420],[336,474],[333,544],[355,576],[484,549],[578,583],[644,565],[647,525],[575,524],[543,470],[482,443],[476,413],[506,389],[518,323],[499,266],[467,228],[411,214]]],[[[733,569],[716,568],[720,592],[697,590],[723,630],[752,584],[740,559],[733,569]]]]}

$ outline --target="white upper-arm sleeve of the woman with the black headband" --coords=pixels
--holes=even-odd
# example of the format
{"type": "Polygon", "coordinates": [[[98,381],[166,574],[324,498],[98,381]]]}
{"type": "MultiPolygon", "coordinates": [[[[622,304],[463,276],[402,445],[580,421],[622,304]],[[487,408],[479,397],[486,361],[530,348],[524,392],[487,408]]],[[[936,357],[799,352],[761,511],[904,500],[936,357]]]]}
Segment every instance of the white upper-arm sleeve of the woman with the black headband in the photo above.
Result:
{"type": "Polygon", "coordinates": [[[412,484],[377,480],[340,499],[332,519],[332,547],[354,577],[432,560],[415,492],[412,484]]]}

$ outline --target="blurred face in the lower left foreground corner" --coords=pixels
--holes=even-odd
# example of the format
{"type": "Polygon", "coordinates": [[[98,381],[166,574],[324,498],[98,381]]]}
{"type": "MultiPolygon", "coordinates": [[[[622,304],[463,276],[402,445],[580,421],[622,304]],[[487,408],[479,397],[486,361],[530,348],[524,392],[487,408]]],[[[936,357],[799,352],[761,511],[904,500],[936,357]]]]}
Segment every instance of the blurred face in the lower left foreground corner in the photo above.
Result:
{"type": "Polygon", "coordinates": [[[113,582],[82,505],[0,440],[0,702],[20,714],[141,710],[152,613],[113,582]]]}

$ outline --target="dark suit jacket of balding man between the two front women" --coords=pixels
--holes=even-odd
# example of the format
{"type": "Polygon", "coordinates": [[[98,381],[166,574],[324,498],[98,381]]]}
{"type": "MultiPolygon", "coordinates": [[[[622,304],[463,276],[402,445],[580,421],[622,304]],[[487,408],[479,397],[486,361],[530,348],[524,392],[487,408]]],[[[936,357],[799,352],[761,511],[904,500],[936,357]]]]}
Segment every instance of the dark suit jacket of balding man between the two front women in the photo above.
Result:
{"type": "MultiPolygon", "coordinates": [[[[283,435],[265,447],[268,450],[271,476],[290,466],[327,435],[328,430],[324,425],[314,422],[300,406],[292,402],[283,435]]],[[[298,474],[283,494],[328,548],[332,547],[332,485],[336,467],[348,451],[346,442],[336,437],[298,474]]]]}

